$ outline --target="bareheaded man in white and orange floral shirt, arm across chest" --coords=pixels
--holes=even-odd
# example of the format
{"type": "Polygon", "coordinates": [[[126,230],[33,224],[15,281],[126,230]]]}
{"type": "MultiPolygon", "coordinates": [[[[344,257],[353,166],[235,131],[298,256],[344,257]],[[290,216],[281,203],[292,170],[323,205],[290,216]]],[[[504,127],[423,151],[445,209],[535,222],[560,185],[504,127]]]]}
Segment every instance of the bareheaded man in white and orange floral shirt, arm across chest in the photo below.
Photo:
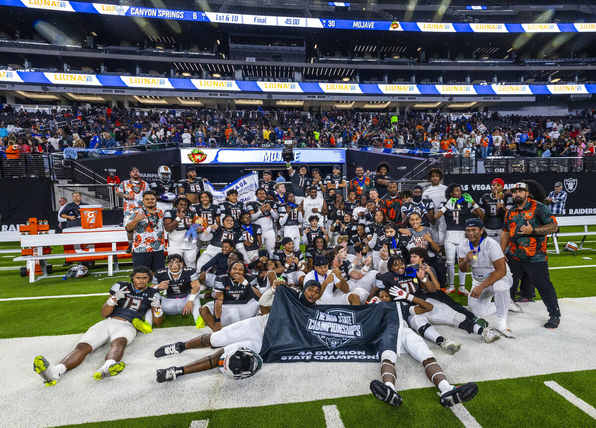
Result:
{"type": "Polygon", "coordinates": [[[157,196],[154,191],[147,190],[142,195],[142,205],[132,211],[126,231],[133,233],[132,266],[147,266],[155,272],[165,267],[163,211],[156,207],[157,196]]]}

